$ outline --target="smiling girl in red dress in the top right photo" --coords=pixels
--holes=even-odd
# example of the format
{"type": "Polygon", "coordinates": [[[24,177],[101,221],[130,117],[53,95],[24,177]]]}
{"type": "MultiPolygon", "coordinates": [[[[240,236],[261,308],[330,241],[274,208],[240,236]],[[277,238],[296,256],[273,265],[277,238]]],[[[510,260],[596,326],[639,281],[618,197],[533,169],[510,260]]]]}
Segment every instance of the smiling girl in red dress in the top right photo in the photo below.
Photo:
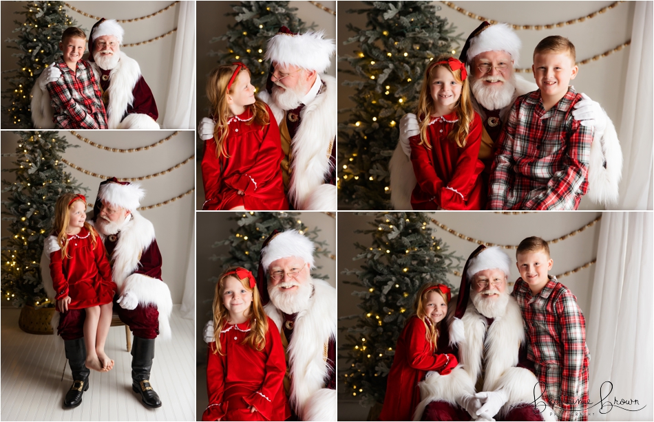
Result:
{"type": "Polygon", "coordinates": [[[414,210],[481,210],[486,187],[478,159],[482,123],[472,109],[465,65],[437,58],[428,65],[416,115],[420,135],[409,139],[418,183],[414,210]]]}

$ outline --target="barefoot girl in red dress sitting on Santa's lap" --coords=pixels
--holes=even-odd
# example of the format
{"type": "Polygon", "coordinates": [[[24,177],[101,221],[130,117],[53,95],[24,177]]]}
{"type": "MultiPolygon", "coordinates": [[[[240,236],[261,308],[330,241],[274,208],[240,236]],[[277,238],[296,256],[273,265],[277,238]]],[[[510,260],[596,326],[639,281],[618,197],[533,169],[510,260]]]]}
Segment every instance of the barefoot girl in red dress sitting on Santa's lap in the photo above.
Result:
{"type": "Polygon", "coordinates": [[[86,198],[65,193],[54,207],[56,242],[50,253],[50,275],[56,291],[56,309],[85,309],[86,367],[108,371],[114,361],[105,355],[105,341],[112,324],[116,283],[101,238],[86,222],[86,198]]]}

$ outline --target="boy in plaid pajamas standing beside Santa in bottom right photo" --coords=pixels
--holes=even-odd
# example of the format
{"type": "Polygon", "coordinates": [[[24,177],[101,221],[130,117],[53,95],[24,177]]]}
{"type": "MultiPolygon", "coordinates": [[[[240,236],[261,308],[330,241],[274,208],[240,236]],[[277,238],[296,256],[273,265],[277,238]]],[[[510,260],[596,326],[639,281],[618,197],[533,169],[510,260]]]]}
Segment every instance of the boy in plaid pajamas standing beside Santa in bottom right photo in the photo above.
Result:
{"type": "Polygon", "coordinates": [[[528,237],[516,252],[520,278],[512,296],[518,300],[527,329],[527,357],[534,362],[542,399],[559,421],[588,419],[586,321],[577,298],[556,277],[553,260],[540,237],[528,237]]]}

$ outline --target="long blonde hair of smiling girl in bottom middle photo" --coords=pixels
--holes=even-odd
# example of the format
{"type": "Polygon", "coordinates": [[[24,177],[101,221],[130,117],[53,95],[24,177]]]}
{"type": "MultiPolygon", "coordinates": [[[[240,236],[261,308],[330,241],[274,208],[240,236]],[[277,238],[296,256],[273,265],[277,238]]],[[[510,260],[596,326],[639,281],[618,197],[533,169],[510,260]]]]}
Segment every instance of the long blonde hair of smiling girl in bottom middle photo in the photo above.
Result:
{"type": "Polygon", "coordinates": [[[250,306],[250,333],[245,337],[245,342],[249,344],[251,348],[255,351],[262,351],[266,346],[266,333],[268,333],[268,317],[264,312],[264,307],[261,304],[261,296],[259,296],[259,290],[257,286],[253,289],[250,288],[250,282],[248,278],[238,278],[238,276],[233,273],[235,269],[240,267],[230,267],[223,271],[218,279],[218,282],[215,284],[215,293],[213,295],[213,342],[215,342],[215,350],[213,353],[222,353],[222,347],[220,346],[220,331],[227,324],[227,318],[229,318],[229,311],[225,308],[225,305],[222,301],[222,293],[225,291],[225,280],[227,277],[233,277],[241,282],[243,288],[247,291],[252,292],[252,304],[250,306]],[[231,273],[231,274],[230,274],[231,273]]]}

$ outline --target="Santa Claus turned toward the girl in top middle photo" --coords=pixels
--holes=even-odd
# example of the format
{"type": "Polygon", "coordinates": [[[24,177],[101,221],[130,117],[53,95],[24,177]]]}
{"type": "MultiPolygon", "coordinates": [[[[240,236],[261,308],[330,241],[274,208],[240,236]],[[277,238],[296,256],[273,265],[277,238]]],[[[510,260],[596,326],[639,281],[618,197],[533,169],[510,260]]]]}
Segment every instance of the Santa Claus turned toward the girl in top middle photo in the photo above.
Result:
{"type": "MultiPolygon", "coordinates": [[[[282,27],[268,41],[266,91],[259,94],[275,115],[282,138],[282,177],[295,210],[336,210],[336,79],[324,72],[334,54],[324,32],[293,34],[282,27]]],[[[200,138],[215,124],[203,118],[200,138]]]]}

